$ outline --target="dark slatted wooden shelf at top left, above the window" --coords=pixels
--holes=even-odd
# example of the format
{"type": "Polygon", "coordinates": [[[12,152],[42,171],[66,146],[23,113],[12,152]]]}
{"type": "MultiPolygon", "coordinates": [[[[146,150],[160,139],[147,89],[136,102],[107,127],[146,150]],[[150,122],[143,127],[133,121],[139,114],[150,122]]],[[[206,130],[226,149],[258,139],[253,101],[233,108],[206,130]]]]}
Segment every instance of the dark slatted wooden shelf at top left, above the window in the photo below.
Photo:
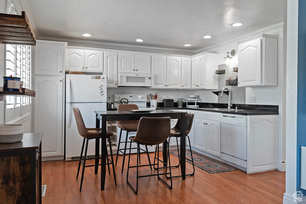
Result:
{"type": "Polygon", "coordinates": [[[36,45],[35,34],[27,15],[0,13],[0,43],[15,45],[36,45]]]}

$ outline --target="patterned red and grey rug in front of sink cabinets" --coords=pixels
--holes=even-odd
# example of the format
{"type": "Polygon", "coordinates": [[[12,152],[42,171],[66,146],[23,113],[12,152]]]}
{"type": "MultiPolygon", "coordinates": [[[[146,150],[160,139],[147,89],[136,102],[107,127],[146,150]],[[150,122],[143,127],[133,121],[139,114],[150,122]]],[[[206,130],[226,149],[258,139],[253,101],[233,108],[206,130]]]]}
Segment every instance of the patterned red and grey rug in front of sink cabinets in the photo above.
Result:
{"type": "MultiPolygon", "coordinates": [[[[170,151],[171,154],[177,155],[177,151],[170,151]]],[[[209,173],[218,173],[218,172],[225,172],[225,171],[234,171],[236,169],[233,169],[232,167],[229,167],[225,164],[221,164],[218,161],[214,161],[212,159],[209,159],[207,157],[204,157],[200,154],[197,154],[195,152],[192,152],[193,162],[194,165],[199,167],[200,169],[203,169],[209,173]]],[[[191,155],[190,150],[186,150],[186,161],[192,164],[191,161],[191,155]],[[189,161],[190,159],[190,161],[189,161]]]]}

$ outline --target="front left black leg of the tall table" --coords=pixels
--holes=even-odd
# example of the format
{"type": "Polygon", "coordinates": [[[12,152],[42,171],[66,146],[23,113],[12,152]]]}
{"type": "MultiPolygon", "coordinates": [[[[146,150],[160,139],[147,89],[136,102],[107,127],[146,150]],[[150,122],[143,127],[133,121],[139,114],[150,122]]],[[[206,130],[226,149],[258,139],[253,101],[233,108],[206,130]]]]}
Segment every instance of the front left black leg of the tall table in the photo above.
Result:
{"type": "Polygon", "coordinates": [[[102,116],[102,133],[101,133],[101,191],[104,190],[106,174],[106,116],[102,116]]]}

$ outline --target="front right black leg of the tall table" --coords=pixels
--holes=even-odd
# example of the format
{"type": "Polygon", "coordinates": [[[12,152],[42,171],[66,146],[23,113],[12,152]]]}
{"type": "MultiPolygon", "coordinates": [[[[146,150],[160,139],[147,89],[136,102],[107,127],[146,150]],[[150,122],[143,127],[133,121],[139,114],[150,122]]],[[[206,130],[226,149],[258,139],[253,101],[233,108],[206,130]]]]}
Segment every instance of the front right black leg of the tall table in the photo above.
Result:
{"type": "Polygon", "coordinates": [[[185,180],[186,177],[186,113],[182,113],[181,118],[181,173],[182,180],[185,180]]]}

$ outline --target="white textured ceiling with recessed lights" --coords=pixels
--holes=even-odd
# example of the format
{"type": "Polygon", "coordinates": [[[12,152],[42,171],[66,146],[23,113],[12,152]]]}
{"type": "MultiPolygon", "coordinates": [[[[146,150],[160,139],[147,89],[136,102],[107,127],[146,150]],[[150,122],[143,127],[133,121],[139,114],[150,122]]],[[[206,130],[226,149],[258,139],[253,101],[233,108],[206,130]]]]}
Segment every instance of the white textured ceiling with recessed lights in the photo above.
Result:
{"type": "Polygon", "coordinates": [[[286,22],[286,0],[27,0],[38,38],[199,50],[286,22]],[[233,27],[235,22],[244,23],[233,27]],[[90,33],[91,37],[83,37],[90,33]],[[212,35],[204,39],[204,35],[212,35]],[[135,39],[144,39],[136,42],[135,39]],[[186,47],[184,44],[191,44],[186,47]]]}

